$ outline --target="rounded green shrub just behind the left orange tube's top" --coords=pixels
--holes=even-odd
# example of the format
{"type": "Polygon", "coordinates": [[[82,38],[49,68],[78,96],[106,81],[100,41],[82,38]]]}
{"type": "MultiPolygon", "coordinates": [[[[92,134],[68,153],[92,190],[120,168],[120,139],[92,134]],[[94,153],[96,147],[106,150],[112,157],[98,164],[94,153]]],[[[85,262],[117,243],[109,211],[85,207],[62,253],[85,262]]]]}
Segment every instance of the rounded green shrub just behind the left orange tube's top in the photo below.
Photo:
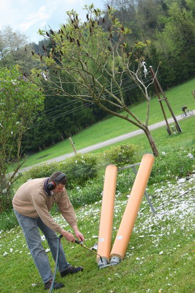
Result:
{"type": "Polygon", "coordinates": [[[107,149],[103,152],[102,159],[106,163],[112,163],[117,167],[121,167],[135,163],[138,159],[137,151],[138,146],[133,144],[111,146],[110,149],[107,149]]]}

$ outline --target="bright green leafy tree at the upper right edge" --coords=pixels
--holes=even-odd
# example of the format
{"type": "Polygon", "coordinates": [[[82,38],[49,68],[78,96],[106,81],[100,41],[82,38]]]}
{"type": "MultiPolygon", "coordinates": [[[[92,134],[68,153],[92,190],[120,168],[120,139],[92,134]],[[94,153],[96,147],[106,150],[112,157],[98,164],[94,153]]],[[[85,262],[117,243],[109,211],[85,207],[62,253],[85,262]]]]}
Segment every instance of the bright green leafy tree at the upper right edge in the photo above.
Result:
{"type": "Polygon", "coordinates": [[[168,17],[162,31],[153,37],[164,88],[192,78],[195,75],[195,17],[193,12],[177,2],[169,6],[168,17]]]}

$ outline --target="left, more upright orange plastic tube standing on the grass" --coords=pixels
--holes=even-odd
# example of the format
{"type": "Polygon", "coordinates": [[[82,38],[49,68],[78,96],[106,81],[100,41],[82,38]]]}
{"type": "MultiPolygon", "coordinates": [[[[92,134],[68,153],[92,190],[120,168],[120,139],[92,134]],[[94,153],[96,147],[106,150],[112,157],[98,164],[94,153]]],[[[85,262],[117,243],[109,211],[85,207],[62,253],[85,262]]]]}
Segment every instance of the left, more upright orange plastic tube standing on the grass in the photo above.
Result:
{"type": "MultiPolygon", "coordinates": [[[[114,198],[116,192],[117,167],[108,165],[105,169],[105,178],[103,184],[103,196],[101,205],[101,215],[98,235],[98,254],[107,263],[111,249],[111,234],[114,212],[114,198]]],[[[97,262],[99,262],[97,257],[97,262]]]]}

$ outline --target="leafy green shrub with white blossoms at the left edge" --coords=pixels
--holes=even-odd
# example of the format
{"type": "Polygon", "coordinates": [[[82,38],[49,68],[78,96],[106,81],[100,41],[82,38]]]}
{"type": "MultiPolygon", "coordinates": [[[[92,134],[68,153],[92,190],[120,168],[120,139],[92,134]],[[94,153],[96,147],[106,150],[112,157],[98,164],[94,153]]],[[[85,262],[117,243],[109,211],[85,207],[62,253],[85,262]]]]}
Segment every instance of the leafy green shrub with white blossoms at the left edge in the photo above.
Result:
{"type": "Polygon", "coordinates": [[[0,202],[3,209],[10,205],[11,187],[22,165],[21,141],[34,117],[43,108],[43,96],[17,67],[0,68],[0,202]],[[9,173],[9,165],[14,166],[9,173]]]}

